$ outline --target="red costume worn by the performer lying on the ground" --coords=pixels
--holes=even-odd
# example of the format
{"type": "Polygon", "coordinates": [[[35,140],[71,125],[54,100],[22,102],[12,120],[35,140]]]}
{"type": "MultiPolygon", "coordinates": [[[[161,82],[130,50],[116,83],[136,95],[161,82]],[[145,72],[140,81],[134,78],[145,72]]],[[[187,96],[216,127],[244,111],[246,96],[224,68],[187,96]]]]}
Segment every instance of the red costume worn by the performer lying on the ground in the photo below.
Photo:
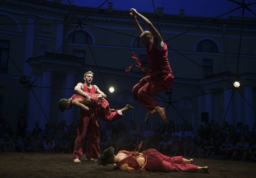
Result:
{"type": "MultiPolygon", "coordinates": [[[[129,167],[138,170],[139,164],[136,159],[132,157],[132,152],[121,150],[118,153],[126,153],[129,157],[122,159],[118,166],[127,163],[129,167]]],[[[148,149],[142,152],[143,156],[146,157],[147,163],[142,171],[161,171],[161,172],[171,172],[171,171],[184,171],[184,172],[197,172],[198,167],[193,164],[183,163],[182,156],[168,157],[161,154],[155,149],[148,149]]],[[[128,170],[131,171],[131,170],[128,170]]]]}

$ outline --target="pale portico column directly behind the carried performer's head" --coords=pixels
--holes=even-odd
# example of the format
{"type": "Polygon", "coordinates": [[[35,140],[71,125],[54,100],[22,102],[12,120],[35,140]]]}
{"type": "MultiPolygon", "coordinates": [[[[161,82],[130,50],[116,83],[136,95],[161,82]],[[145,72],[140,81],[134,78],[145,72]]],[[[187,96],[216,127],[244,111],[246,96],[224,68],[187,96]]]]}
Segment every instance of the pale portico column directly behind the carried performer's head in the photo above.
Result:
{"type": "MultiPolygon", "coordinates": [[[[74,85],[75,85],[74,82],[75,82],[75,75],[67,73],[65,88],[71,88],[71,89],[65,89],[64,98],[68,99],[74,94],[74,85]]],[[[69,110],[66,110],[62,118],[66,120],[67,125],[71,124],[73,122],[73,109],[71,108],[69,110]]]]}

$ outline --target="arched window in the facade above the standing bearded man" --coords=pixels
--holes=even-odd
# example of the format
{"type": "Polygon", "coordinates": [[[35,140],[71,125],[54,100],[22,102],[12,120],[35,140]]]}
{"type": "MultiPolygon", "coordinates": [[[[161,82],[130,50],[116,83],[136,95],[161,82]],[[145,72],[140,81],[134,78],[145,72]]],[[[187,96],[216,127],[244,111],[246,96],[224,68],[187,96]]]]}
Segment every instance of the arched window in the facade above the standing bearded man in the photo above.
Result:
{"type": "Polygon", "coordinates": [[[91,36],[82,30],[75,31],[68,36],[67,42],[69,43],[83,43],[83,44],[92,44],[91,36]]]}

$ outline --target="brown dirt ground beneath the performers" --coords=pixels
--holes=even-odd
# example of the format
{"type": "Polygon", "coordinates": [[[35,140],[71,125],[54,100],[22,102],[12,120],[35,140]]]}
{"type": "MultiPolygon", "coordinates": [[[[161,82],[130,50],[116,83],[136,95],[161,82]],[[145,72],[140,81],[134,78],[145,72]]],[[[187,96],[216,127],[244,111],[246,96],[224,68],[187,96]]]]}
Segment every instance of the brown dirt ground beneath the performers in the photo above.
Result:
{"type": "Polygon", "coordinates": [[[256,163],[194,158],[194,164],[209,166],[210,173],[142,172],[112,170],[81,159],[74,163],[70,153],[0,153],[0,177],[255,177],[256,163]]]}

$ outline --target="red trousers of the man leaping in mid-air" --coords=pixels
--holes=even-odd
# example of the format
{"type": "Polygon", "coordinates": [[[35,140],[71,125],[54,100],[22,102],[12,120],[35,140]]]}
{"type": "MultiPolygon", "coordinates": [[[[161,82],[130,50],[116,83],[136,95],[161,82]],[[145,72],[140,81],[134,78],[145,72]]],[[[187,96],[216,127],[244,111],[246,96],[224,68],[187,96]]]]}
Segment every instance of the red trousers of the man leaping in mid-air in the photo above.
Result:
{"type": "Polygon", "coordinates": [[[153,72],[148,78],[143,78],[140,83],[134,86],[133,96],[141,103],[142,106],[149,110],[153,110],[154,106],[158,106],[158,102],[153,96],[161,91],[170,89],[173,84],[174,76],[172,74],[161,74],[153,72]]]}

